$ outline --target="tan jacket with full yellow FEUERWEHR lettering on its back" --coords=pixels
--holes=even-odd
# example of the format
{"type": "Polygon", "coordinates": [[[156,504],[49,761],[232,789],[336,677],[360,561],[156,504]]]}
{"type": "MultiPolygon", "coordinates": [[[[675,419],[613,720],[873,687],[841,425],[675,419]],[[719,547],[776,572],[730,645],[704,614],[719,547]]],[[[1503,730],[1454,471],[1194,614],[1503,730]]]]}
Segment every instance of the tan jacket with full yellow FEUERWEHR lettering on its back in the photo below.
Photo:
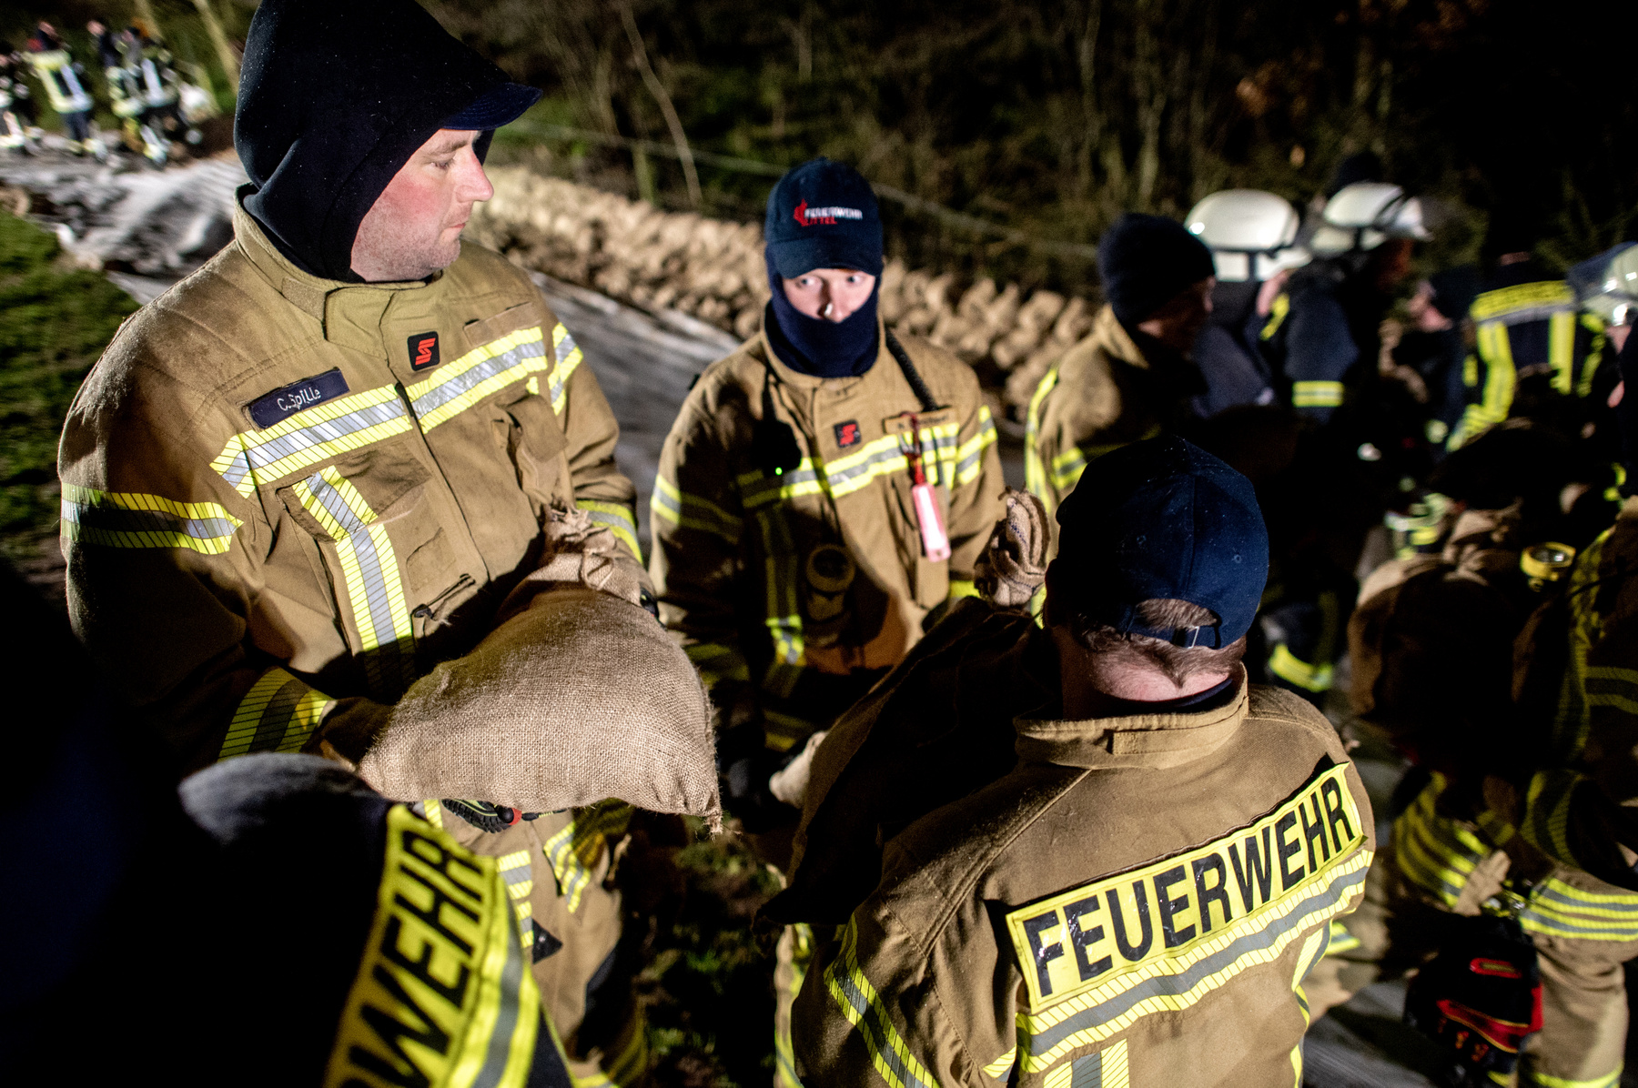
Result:
{"type": "Polygon", "coordinates": [[[1302,978],[1374,832],[1294,695],[1019,719],[1019,762],[886,847],[793,1013],[809,1088],[1301,1081],[1302,978]]]}

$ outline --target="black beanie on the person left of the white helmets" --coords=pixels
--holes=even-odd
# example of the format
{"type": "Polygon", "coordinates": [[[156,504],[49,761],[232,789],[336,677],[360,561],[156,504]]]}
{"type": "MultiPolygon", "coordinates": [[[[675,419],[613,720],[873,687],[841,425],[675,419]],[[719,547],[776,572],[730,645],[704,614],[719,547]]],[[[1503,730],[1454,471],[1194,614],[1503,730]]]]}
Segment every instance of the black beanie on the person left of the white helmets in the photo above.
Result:
{"type": "Polygon", "coordinates": [[[1137,328],[1171,298],[1215,275],[1212,251],[1176,220],[1127,211],[1097,243],[1097,275],[1120,324],[1137,328]]]}

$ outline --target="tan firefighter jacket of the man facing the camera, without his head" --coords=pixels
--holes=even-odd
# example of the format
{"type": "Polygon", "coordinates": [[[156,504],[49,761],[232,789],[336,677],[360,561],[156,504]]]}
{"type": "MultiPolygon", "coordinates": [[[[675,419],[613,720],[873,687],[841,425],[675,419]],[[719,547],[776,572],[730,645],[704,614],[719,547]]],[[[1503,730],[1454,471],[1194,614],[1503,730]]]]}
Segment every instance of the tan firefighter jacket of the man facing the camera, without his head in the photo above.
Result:
{"type": "Polygon", "coordinates": [[[939,411],[922,411],[885,342],[862,377],[819,379],[785,365],[758,334],[706,367],[660,456],[650,555],[660,618],[708,687],[760,688],[775,749],[829,724],[863,695],[858,677],[904,657],[930,610],[971,593],[1002,511],[996,424],[971,367],[925,341],[903,346],[939,411]],[[770,403],[803,457],[791,472],[757,462],[753,434],[770,403]],[[945,562],[922,551],[907,413],[950,537],[945,562]],[[808,578],[822,544],[857,565],[832,605],[837,629],[824,634],[808,578]]]}

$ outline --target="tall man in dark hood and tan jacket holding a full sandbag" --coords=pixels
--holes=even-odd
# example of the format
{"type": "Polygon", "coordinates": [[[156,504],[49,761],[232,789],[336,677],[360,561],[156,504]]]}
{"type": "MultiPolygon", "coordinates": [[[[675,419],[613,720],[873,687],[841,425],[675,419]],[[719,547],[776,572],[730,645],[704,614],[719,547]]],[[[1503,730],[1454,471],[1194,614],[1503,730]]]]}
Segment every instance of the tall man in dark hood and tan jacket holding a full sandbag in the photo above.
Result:
{"type": "MultiPolygon", "coordinates": [[[[179,772],[357,760],[410,682],[488,632],[550,508],[590,511],[639,562],[580,349],[526,275],[459,241],[491,192],[490,129],[537,97],[414,3],[257,11],[234,241],[126,323],[61,449],[75,629],[179,772]],[[410,64],[432,74],[406,82],[410,64]]],[[[424,806],[500,855],[573,1049],[619,934],[601,880],[631,809],[424,806]]],[[[596,1045],[611,1072],[642,1059],[596,1045]]]]}

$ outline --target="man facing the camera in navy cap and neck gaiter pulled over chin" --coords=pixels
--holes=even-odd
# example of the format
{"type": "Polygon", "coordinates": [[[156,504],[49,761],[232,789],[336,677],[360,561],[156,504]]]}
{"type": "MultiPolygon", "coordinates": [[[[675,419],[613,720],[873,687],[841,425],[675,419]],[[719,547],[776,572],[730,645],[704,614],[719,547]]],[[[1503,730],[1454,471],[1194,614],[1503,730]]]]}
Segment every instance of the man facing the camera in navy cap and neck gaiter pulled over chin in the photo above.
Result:
{"type": "Polygon", "coordinates": [[[881,324],[881,220],[858,172],[814,159],[781,177],[767,259],[762,331],[706,367],[665,441],[650,559],[752,831],[794,824],[770,773],[971,593],[1004,487],[971,367],[881,324]]]}

